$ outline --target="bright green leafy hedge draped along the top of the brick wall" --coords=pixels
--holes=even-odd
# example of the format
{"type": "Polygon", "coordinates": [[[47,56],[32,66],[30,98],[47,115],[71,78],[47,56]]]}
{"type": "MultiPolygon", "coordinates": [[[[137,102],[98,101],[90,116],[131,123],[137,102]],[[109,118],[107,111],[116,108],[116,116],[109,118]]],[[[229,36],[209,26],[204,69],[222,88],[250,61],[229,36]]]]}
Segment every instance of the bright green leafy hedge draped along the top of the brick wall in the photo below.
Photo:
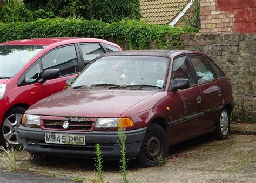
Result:
{"type": "Polygon", "coordinates": [[[111,40],[129,49],[147,49],[149,41],[160,49],[179,45],[179,36],[195,33],[190,27],[149,25],[143,21],[119,21],[108,24],[82,19],[41,19],[34,22],[0,24],[0,42],[41,37],[91,37],[111,40]]]}

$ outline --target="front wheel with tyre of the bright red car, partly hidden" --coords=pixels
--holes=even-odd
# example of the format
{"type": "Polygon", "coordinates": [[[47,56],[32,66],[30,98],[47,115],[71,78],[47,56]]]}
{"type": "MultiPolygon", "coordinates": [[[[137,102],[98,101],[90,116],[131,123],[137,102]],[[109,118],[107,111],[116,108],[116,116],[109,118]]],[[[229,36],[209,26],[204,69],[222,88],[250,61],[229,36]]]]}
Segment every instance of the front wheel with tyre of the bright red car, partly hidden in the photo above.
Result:
{"type": "Polygon", "coordinates": [[[23,107],[14,107],[6,112],[0,129],[0,144],[6,146],[6,143],[13,147],[22,145],[18,136],[18,127],[21,126],[22,116],[26,109],[23,107]]]}

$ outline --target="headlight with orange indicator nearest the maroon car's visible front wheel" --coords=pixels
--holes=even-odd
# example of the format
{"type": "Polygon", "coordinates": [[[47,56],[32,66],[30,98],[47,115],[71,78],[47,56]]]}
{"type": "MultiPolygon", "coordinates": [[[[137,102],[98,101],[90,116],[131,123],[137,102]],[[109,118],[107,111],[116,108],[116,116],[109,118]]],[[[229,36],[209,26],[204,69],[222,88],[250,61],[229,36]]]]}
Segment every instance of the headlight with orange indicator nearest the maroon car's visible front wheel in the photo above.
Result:
{"type": "Polygon", "coordinates": [[[95,124],[96,128],[120,128],[131,126],[133,126],[133,121],[129,118],[98,118],[95,124]]]}

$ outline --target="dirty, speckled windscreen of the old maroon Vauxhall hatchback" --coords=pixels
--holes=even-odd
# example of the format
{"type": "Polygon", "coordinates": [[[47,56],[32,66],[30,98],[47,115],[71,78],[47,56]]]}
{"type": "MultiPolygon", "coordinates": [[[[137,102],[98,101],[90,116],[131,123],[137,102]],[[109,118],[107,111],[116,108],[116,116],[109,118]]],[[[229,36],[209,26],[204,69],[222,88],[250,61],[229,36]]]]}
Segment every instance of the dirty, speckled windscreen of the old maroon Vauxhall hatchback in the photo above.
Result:
{"type": "Polygon", "coordinates": [[[108,89],[159,90],[165,88],[169,58],[106,56],[96,59],[71,85],[108,89]]]}

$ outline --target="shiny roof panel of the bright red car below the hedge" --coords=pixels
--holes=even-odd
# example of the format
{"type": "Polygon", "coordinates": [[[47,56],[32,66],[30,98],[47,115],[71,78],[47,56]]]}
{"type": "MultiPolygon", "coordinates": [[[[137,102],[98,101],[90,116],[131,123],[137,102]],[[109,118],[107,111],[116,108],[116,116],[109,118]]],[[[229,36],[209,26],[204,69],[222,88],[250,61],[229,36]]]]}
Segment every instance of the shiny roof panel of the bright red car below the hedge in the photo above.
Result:
{"type": "Polygon", "coordinates": [[[43,46],[49,46],[53,43],[58,42],[100,42],[100,43],[106,43],[111,44],[113,43],[108,42],[106,40],[102,39],[96,39],[96,38],[80,38],[80,37],[53,37],[53,38],[35,38],[35,39],[23,39],[23,40],[13,40],[10,42],[1,43],[0,45],[43,45],[43,46]]]}

